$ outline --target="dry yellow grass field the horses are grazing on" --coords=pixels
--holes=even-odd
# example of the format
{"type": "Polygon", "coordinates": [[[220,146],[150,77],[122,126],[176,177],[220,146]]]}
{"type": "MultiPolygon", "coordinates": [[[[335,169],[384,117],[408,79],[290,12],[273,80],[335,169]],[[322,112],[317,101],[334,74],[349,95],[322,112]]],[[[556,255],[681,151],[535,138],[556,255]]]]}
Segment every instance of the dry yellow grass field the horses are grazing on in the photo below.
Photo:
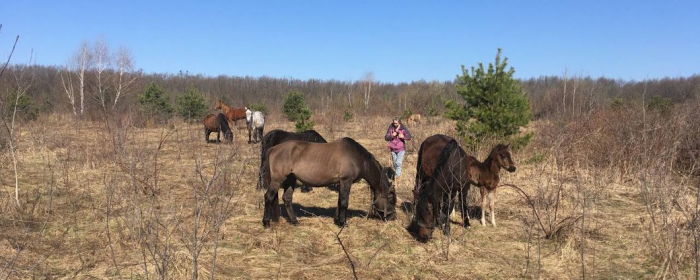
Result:
{"type": "MultiPolygon", "coordinates": [[[[383,165],[390,116],[319,124],[326,139],[351,137],[383,165]]],[[[538,131],[540,123],[526,128],[538,131]]],[[[271,116],[266,132],[293,130],[271,116]]],[[[137,128],[129,119],[75,121],[42,116],[16,130],[20,206],[9,151],[0,156],[0,278],[78,279],[638,279],[664,277],[655,256],[648,209],[632,173],[596,166],[562,168],[556,153],[515,151],[515,173],[501,173],[532,200],[498,190],[497,226],[436,230],[427,243],[394,221],[367,219],[364,181],[350,195],[348,226],[333,224],[338,194],[294,194],[300,224],[262,226],[263,192],[255,189],[259,144],[234,131],[233,144],[205,143],[199,123],[137,128]],[[540,223],[541,222],[541,223],[540,223]]],[[[416,150],[454,124],[429,119],[411,127],[400,201],[412,200],[416,150]]],[[[539,137],[539,136],[535,136],[539,137]]],[[[479,149],[483,160],[489,147],[479,149]]],[[[687,182],[680,182],[687,183],[687,182]]],[[[478,191],[470,192],[477,205],[478,191]]],[[[285,216],[284,208],[282,210],[285,216]]],[[[488,219],[487,219],[488,220],[488,219]]],[[[660,242],[660,241],[659,241],[660,242]]],[[[687,257],[687,256],[686,256],[687,257]]],[[[693,275],[681,266],[679,275],[693,275]]]]}

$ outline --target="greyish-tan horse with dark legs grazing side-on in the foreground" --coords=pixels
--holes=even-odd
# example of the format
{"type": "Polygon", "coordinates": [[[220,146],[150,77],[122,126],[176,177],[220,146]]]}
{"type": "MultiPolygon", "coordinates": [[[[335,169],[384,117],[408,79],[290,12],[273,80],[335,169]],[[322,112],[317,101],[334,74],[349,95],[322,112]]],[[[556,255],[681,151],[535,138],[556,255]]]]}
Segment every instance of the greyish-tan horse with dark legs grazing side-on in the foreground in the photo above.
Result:
{"type": "Polygon", "coordinates": [[[289,222],[298,224],[292,209],[292,187],[296,180],[309,186],[327,186],[340,183],[338,208],[334,223],[346,225],[350,187],[364,179],[372,191],[370,215],[384,219],[396,218],[396,192],[389,178],[393,176],[390,167],[382,167],[374,156],[351,138],[342,138],[330,143],[312,143],[289,140],[267,151],[266,172],[263,177],[265,193],[265,213],[263,226],[269,227],[270,220],[279,221],[279,189],[284,189],[284,205],[289,222]]]}

